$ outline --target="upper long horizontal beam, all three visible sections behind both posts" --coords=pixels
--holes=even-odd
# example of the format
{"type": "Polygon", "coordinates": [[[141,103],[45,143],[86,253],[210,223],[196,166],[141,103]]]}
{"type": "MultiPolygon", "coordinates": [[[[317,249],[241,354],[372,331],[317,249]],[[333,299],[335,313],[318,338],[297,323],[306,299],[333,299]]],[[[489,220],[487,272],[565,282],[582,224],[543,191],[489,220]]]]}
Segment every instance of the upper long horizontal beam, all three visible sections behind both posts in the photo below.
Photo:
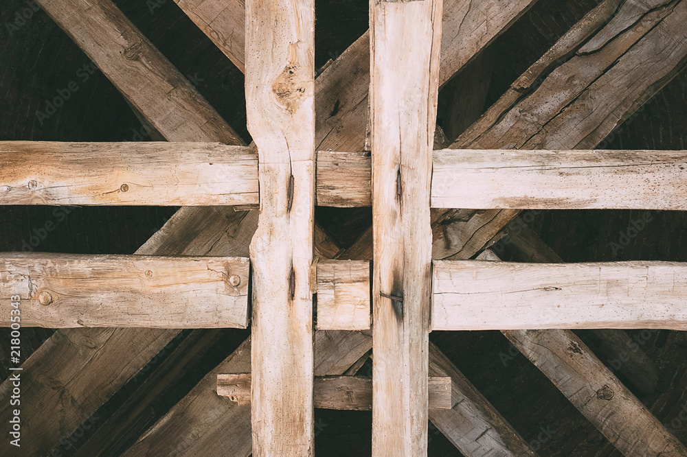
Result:
{"type": "MultiPolygon", "coordinates": [[[[257,205],[258,156],[220,143],[0,142],[0,204],[257,205]]],[[[366,152],[317,152],[317,204],[369,207],[366,152]]],[[[436,150],[431,207],[687,209],[686,151],[436,150]]]]}

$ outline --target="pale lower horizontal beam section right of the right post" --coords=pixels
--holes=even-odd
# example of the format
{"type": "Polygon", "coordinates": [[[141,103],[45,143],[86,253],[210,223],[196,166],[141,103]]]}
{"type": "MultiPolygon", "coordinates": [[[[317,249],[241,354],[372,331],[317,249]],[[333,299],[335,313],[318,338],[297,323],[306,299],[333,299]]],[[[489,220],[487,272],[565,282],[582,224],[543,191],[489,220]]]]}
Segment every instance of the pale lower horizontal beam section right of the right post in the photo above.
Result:
{"type": "Polygon", "coordinates": [[[687,263],[435,261],[433,330],[687,329],[687,263]]]}

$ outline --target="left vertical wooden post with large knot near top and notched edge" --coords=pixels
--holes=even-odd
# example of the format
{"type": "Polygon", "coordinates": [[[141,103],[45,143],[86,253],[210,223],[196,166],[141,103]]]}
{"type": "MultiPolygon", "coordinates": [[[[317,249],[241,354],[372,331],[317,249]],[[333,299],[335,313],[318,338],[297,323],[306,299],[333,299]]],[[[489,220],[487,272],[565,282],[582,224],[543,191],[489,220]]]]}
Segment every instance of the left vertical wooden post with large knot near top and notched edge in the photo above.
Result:
{"type": "Polygon", "coordinates": [[[315,2],[246,2],[248,130],[258,146],[253,266],[253,455],[311,456],[315,2]]]}

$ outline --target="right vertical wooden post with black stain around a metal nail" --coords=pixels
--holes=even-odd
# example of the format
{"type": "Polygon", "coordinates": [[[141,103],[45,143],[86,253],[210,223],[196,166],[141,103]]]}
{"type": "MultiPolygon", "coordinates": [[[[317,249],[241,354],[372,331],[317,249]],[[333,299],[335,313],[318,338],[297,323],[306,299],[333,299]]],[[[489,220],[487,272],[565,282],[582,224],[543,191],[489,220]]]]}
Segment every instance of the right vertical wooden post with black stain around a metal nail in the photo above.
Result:
{"type": "Polygon", "coordinates": [[[429,187],[441,0],[370,1],[372,455],[427,455],[429,187]]]}

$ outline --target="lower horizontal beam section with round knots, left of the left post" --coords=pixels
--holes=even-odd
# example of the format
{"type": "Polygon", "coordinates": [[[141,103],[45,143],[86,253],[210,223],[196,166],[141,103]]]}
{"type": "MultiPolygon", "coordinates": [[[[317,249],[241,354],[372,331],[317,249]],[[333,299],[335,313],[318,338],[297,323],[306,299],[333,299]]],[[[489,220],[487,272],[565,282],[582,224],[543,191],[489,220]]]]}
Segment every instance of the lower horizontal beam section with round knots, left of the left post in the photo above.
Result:
{"type": "Polygon", "coordinates": [[[3,253],[0,305],[19,295],[25,327],[246,328],[248,274],[242,257],[3,253]]]}

